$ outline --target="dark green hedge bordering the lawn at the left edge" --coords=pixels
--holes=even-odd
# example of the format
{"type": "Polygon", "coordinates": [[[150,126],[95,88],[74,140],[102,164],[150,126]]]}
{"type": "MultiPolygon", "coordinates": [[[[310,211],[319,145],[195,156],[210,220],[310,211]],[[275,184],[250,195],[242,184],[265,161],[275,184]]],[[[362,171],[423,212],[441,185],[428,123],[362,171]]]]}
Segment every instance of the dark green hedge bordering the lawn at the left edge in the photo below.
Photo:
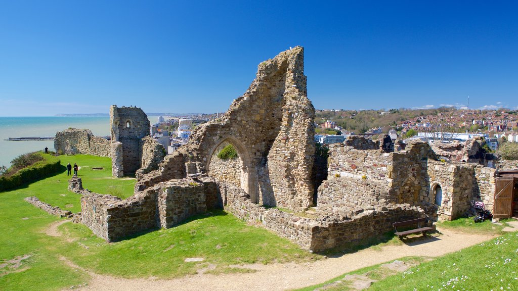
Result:
{"type": "Polygon", "coordinates": [[[0,191],[6,191],[20,186],[23,183],[32,182],[44,178],[49,174],[60,170],[61,161],[57,157],[37,153],[43,159],[31,166],[22,168],[10,176],[0,176],[0,191]]]}

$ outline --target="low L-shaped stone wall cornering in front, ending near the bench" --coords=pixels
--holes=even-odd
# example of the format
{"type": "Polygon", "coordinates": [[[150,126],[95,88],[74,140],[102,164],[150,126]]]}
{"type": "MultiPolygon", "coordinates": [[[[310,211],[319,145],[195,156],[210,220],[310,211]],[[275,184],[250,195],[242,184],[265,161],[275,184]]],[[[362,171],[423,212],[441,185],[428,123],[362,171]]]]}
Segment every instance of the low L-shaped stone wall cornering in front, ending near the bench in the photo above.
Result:
{"type": "Polygon", "coordinates": [[[235,216],[262,225],[288,238],[303,249],[314,252],[354,244],[361,240],[377,237],[392,230],[392,223],[425,217],[419,207],[408,204],[389,205],[373,210],[358,210],[352,217],[322,216],[307,219],[278,209],[266,209],[254,204],[240,188],[220,183],[225,209],[235,216]],[[345,220],[344,220],[345,218],[345,220]]]}

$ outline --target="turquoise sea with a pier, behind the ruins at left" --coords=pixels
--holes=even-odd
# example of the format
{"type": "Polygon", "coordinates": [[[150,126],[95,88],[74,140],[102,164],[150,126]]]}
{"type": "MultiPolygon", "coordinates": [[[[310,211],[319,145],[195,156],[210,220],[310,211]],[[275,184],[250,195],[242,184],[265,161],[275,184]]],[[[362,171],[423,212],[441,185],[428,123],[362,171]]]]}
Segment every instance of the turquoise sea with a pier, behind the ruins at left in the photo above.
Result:
{"type": "MultiPolygon", "coordinates": [[[[158,117],[148,117],[151,124],[158,117]]],[[[67,128],[90,129],[96,136],[110,135],[109,117],[60,116],[60,117],[0,117],[0,165],[9,167],[13,158],[29,152],[54,151],[54,141],[7,141],[15,137],[54,137],[67,128]]]]}

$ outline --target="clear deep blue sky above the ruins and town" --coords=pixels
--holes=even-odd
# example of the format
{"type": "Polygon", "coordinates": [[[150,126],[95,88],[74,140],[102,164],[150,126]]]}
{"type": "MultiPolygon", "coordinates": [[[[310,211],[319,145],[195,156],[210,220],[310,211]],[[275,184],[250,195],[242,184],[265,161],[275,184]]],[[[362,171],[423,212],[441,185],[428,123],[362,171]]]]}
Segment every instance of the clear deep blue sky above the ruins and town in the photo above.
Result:
{"type": "Polygon", "coordinates": [[[222,112],[295,46],[317,109],[518,107],[516,1],[1,1],[0,115],[222,112]]]}

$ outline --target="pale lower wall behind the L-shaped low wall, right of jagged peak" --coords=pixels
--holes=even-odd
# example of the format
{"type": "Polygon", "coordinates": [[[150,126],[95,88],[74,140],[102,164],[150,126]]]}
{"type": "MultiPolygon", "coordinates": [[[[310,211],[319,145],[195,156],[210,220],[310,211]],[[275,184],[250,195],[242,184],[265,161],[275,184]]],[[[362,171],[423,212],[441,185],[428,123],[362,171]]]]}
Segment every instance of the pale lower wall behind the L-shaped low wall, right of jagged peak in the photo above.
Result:
{"type": "Polygon", "coordinates": [[[358,208],[397,203],[386,183],[349,177],[326,180],[318,191],[319,212],[347,216],[358,208]]]}

